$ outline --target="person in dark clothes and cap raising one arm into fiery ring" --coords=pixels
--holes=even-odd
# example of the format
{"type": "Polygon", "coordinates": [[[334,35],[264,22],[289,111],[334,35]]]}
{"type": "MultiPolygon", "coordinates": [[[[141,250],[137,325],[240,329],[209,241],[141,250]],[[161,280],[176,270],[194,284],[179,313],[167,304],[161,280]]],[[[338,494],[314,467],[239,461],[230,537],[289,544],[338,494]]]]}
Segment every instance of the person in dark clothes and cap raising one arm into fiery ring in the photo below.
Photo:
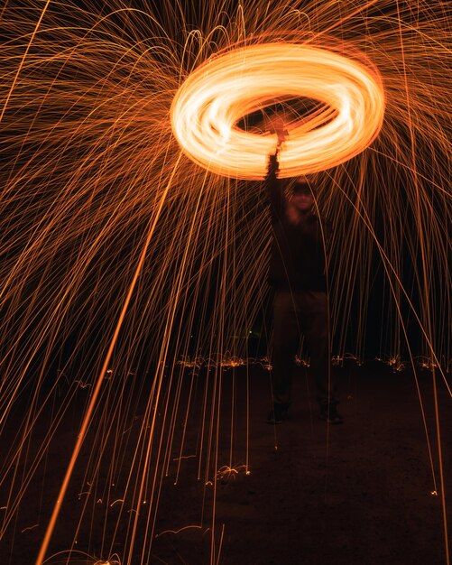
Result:
{"type": "Polygon", "coordinates": [[[292,181],[291,197],[278,178],[276,153],[270,155],[265,185],[272,218],[269,283],[274,289],[272,338],[272,410],[269,423],[288,418],[295,355],[304,334],[309,347],[320,417],[342,423],[331,374],[325,245],[330,226],[318,217],[314,189],[305,177],[292,181]]]}

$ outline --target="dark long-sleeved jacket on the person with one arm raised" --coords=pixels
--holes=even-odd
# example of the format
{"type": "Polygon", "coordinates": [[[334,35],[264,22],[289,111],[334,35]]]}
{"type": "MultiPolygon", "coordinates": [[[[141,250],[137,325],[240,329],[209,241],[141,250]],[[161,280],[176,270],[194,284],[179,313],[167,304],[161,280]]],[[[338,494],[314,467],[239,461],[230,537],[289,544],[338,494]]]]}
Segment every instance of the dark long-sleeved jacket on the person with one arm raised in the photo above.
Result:
{"type": "Polygon", "coordinates": [[[272,218],[272,255],[268,280],[275,287],[327,291],[325,245],[331,228],[314,213],[293,224],[287,214],[284,184],[277,177],[276,155],[270,157],[265,179],[272,218]]]}

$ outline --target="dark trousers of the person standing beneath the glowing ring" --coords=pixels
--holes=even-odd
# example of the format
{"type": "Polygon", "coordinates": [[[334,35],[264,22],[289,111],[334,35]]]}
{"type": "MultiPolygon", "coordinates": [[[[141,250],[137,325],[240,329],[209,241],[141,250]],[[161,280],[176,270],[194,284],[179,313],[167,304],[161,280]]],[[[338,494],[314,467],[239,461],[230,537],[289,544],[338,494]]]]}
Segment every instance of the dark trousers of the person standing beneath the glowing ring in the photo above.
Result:
{"type": "Polygon", "coordinates": [[[304,335],[318,403],[337,403],[331,372],[327,293],[277,288],[273,300],[272,388],[274,403],[291,403],[295,356],[304,335]]]}

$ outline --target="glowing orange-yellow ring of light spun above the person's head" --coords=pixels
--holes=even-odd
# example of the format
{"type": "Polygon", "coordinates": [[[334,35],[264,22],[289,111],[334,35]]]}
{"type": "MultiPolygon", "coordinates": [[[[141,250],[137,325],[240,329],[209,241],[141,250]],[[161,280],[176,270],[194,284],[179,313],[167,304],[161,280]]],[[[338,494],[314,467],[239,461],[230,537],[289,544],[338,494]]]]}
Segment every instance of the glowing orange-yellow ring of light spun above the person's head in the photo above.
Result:
{"type": "Polygon", "coordinates": [[[375,69],[335,51],[297,43],[262,43],[218,56],[181,85],[171,107],[183,151],[208,171],[262,179],[275,134],[236,127],[244,116],[281,97],[309,97],[335,112],[289,127],[280,176],[323,171],[374,141],[383,123],[384,93],[375,69]]]}

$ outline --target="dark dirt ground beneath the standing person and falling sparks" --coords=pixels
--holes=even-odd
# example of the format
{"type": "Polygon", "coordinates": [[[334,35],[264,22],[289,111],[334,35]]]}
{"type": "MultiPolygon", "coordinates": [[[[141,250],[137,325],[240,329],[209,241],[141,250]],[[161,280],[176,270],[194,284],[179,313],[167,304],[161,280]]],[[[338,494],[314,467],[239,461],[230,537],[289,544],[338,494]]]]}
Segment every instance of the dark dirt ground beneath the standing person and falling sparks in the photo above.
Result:
{"type": "MultiPolygon", "coordinates": [[[[214,459],[201,466],[200,476],[199,457],[190,457],[195,452],[199,455],[199,426],[194,422],[199,421],[202,413],[206,381],[202,376],[197,377],[196,394],[191,399],[192,417],[183,429],[180,473],[177,471],[179,448],[176,448],[180,445],[182,431],[177,426],[171,466],[158,485],[155,523],[145,524],[143,531],[137,533],[137,546],[146,532],[153,536],[147,562],[170,565],[208,565],[211,562],[218,565],[447,564],[431,373],[418,373],[419,390],[410,370],[392,373],[388,366],[375,362],[336,367],[335,373],[341,399],[339,412],[344,416],[344,424],[327,426],[318,418],[312,383],[306,371],[300,369],[291,420],[272,426],[265,421],[271,405],[268,372],[251,366],[247,380],[244,367],[225,371],[221,381],[221,418],[214,421],[214,431],[219,431],[217,449],[211,451],[214,459]],[[249,405],[244,400],[247,388],[249,405]],[[215,467],[223,468],[224,472],[217,475],[217,481],[206,480],[208,469],[215,467]],[[435,490],[438,495],[434,494],[435,490]],[[212,560],[212,539],[215,560],[212,560]]],[[[187,387],[182,388],[180,405],[187,400],[187,387]]],[[[30,480],[23,477],[26,496],[0,542],[2,565],[28,565],[36,559],[77,437],[78,416],[87,401],[83,394],[87,393],[78,391],[73,406],[65,412],[51,448],[33,477],[30,480]]],[[[143,391],[140,396],[142,405],[136,404],[135,422],[144,411],[143,391]]],[[[447,388],[440,378],[438,403],[450,524],[452,412],[447,388]]],[[[48,415],[49,422],[57,413],[55,405],[52,411],[48,415]]],[[[23,418],[20,409],[15,411],[14,418],[8,424],[11,433],[23,418]]],[[[99,420],[98,426],[106,430],[105,422],[99,420]]],[[[139,442],[140,430],[140,425],[134,425],[132,431],[128,431],[130,445],[139,442]]],[[[42,424],[36,433],[41,433],[43,438],[45,432],[42,424]]],[[[111,440],[119,433],[124,431],[116,427],[107,435],[111,440]]],[[[2,441],[4,457],[8,450],[5,437],[8,436],[2,441]]],[[[115,535],[109,531],[114,528],[110,523],[118,523],[116,518],[121,506],[113,504],[121,499],[121,493],[114,492],[113,486],[106,489],[110,477],[104,463],[109,449],[115,448],[106,448],[104,463],[96,467],[88,449],[90,441],[94,445],[94,436],[91,440],[88,438],[86,449],[80,453],[52,538],[51,565],[96,562],[84,557],[86,554],[106,560],[107,544],[98,540],[110,538],[115,542],[108,546],[109,555],[113,549],[121,562],[125,562],[121,539],[130,536],[130,521],[117,527],[115,535]],[[88,468],[96,469],[97,491],[96,495],[83,496],[80,485],[88,480],[88,468]],[[93,496],[97,498],[94,502],[93,496]],[[88,510],[78,523],[84,505],[88,510]],[[57,555],[70,548],[73,552],[69,560],[67,552],[57,555]]],[[[39,443],[38,436],[36,442],[39,443]]],[[[125,477],[127,469],[133,466],[131,457],[126,449],[121,455],[120,468],[125,477]]],[[[0,506],[10,503],[7,486],[5,484],[0,491],[0,506]]],[[[124,515],[129,520],[130,514],[124,515]]],[[[114,562],[113,557],[110,562],[114,562]]],[[[131,562],[138,565],[146,561],[137,553],[131,562]]]]}

